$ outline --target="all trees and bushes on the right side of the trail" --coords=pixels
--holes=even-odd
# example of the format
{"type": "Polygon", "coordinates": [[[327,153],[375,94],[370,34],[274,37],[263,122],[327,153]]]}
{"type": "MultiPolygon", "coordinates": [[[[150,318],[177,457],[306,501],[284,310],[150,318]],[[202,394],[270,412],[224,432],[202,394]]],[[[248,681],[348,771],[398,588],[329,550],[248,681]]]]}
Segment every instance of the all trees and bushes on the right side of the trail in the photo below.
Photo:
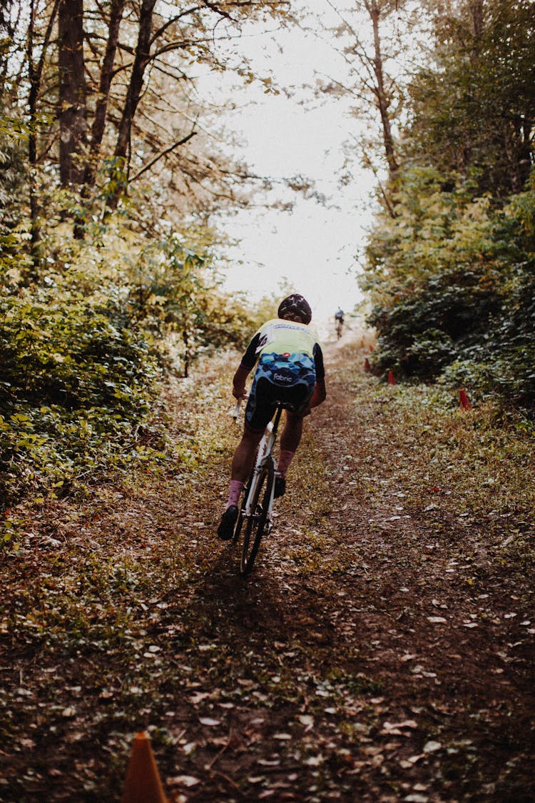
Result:
{"type": "Polygon", "coordinates": [[[387,177],[361,282],[375,369],[533,411],[535,7],[424,5],[419,57],[391,77],[378,69],[379,34],[415,4],[363,3],[377,34],[372,106],[387,177]]]}

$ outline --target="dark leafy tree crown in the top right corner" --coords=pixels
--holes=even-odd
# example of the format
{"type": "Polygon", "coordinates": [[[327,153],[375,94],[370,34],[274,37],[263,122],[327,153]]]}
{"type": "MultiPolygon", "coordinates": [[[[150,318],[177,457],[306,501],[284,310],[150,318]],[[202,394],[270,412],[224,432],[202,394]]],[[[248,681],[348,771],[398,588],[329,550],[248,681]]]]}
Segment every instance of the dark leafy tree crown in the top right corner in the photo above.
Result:
{"type": "Polygon", "coordinates": [[[442,6],[434,59],[411,81],[407,155],[477,175],[479,192],[519,192],[533,164],[535,24],[529,0],[442,6]]]}

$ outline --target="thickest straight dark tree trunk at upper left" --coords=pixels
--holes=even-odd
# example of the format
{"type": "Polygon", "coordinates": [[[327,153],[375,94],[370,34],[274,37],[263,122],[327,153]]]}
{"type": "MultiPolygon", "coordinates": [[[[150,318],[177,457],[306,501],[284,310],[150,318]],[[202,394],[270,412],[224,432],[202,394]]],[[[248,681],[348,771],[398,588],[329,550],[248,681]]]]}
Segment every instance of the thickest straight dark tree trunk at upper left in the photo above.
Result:
{"type": "Polygon", "coordinates": [[[86,82],[83,62],[83,0],[60,0],[59,177],[63,187],[82,184],[84,169],[76,159],[86,141],[86,82]]]}

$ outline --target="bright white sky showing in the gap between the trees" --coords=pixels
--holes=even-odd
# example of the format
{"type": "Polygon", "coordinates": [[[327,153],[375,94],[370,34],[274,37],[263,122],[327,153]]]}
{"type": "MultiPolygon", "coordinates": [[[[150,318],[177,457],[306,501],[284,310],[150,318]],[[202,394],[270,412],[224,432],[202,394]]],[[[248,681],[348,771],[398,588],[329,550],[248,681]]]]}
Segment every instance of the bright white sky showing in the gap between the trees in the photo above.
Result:
{"type": "MultiPolygon", "coordinates": [[[[330,10],[326,0],[313,0],[307,7],[330,10]]],[[[309,90],[308,102],[299,103],[305,96],[299,88],[315,84],[315,71],[341,75],[342,63],[328,44],[294,27],[279,31],[276,42],[269,34],[256,34],[241,39],[239,47],[254,71],[271,73],[275,82],[298,92],[288,99],[283,94],[266,95],[256,84],[234,90],[239,108],[225,115],[225,127],[243,135],[241,155],[254,172],[274,179],[302,174],[315,182],[328,203],[321,206],[281,188],[283,199],[297,201],[293,211],[258,206],[225,219],[225,230],[240,240],[229,253],[232,266],[225,286],[245,291],[254,300],[278,297],[279,283],[288,279],[292,289],[310,301],[319,325],[334,316],[338,305],[351,312],[362,300],[355,278],[356,255],[371,222],[373,178],[359,169],[358,160],[351,185],[340,188],[337,181],[343,143],[355,135],[348,101],[313,101],[309,90]]],[[[214,97],[221,100],[225,79],[217,75],[205,81],[206,86],[213,82],[214,97]]]]}

